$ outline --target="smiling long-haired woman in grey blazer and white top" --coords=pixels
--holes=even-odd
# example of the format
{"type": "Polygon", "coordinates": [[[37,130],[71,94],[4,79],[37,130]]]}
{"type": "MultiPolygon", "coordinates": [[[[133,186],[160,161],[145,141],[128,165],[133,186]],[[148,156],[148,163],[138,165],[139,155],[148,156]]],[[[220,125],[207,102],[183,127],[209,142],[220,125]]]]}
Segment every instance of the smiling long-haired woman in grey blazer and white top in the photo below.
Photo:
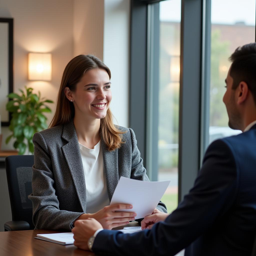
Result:
{"type": "MultiPolygon", "coordinates": [[[[109,206],[121,176],[148,181],[133,130],[113,124],[110,78],[92,55],[73,58],[63,72],[50,128],[33,137],[36,229],[71,230],[87,218],[112,229],[135,219],[120,212],[131,205],[109,206]]],[[[157,209],[167,212],[162,202],[157,209]]]]}

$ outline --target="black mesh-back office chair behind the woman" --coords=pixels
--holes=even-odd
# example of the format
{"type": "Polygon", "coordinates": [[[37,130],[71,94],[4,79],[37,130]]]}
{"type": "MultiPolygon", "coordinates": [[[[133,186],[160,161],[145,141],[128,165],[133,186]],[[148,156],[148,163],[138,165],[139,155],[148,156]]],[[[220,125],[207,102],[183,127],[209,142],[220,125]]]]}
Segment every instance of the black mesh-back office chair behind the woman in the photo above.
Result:
{"type": "Polygon", "coordinates": [[[32,166],[34,155],[8,156],[5,158],[6,176],[12,210],[12,221],[4,224],[5,231],[34,229],[32,222],[32,166]]]}

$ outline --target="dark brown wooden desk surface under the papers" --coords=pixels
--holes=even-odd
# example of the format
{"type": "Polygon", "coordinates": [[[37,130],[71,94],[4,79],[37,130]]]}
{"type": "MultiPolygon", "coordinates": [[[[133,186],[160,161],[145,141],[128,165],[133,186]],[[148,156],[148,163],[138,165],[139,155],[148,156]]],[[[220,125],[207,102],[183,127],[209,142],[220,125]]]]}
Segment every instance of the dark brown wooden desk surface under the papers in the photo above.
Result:
{"type": "MultiPolygon", "coordinates": [[[[115,229],[123,229],[123,227],[127,226],[138,226],[138,224],[137,222],[131,222],[129,225],[121,226],[115,229]]],[[[92,252],[80,250],[73,244],[61,245],[57,243],[35,239],[35,236],[40,233],[49,234],[59,232],[44,229],[0,232],[1,256],[95,255],[92,252]]]]}

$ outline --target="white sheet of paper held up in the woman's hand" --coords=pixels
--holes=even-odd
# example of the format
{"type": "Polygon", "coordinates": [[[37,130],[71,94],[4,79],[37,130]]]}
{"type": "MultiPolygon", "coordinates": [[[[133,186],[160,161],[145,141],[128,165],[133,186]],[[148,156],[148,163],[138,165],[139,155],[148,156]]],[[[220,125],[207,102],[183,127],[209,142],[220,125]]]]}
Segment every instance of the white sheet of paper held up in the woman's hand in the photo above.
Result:
{"type": "Polygon", "coordinates": [[[169,183],[170,180],[147,182],[121,177],[110,205],[131,204],[132,209],[120,211],[136,212],[136,219],[144,218],[152,214],[169,183]]]}

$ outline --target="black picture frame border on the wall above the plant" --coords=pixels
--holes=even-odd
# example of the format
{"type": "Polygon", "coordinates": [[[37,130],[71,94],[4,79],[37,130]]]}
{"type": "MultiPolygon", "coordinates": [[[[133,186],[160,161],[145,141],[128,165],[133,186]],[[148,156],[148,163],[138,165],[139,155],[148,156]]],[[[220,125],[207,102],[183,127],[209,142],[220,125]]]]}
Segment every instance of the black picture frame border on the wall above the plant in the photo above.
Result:
{"type": "MultiPolygon", "coordinates": [[[[13,92],[13,18],[0,18],[0,23],[8,24],[8,93],[11,93],[13,92]]],[[[8,117],[8,121],[2,122],[1,120],[1,126],[10,125],[10,112],[8,113],[8,117]]]]}

